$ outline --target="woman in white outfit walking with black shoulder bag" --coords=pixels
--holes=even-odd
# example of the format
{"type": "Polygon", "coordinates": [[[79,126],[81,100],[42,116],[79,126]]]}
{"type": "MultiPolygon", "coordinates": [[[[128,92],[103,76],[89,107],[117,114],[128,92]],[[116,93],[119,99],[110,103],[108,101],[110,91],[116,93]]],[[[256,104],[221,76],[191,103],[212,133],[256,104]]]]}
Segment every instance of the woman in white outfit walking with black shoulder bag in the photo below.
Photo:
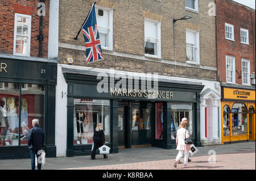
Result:
{"type": "Polygon", "coordinates": [[[181,121],[180,122],[181,128],[178,129],[178,131],[177,131],[177,137],[176,137],[177,148],[176,148],[176,150],[179,150],[179,153],[177,154],[177,157],[174,162],[175,168],[177,167],[177,162],[180,160],[180,158],[183,157],[183,154],[184,154],[184,168],[187,168],[190,145],[185,144],[185,141],[184,141],[185,137],[189,138],[189,132],[186,131],[185,125],[186,125],[185,122],[181,121]]]}

